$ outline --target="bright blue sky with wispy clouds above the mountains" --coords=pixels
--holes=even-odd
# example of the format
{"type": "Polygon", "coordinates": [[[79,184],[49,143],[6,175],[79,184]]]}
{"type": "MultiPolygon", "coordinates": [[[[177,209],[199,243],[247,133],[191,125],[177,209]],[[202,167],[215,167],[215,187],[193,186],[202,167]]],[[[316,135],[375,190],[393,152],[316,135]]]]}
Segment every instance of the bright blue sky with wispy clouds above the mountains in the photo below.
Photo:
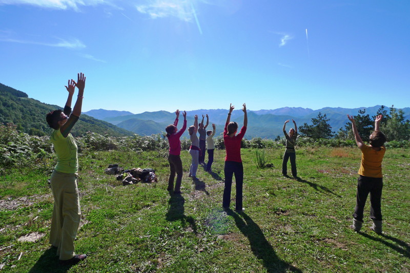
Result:
{"type": "Polygon", "coordinates": [[[83,110],[409,107],[409,1],[0,0],[0,82],[83,110]],[[307,35],[306,35],[307,34],[307,35]]]}

